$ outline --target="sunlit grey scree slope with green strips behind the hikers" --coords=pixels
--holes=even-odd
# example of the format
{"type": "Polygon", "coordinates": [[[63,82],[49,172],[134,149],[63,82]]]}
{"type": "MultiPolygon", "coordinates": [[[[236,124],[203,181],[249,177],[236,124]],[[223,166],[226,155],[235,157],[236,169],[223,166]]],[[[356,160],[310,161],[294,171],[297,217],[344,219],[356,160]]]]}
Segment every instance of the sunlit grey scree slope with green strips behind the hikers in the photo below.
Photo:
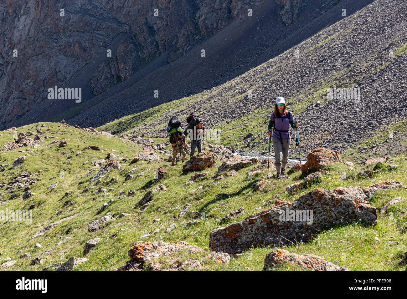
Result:
{"type": "MultiPolygon", "coordinates": [[[[396,2],[376,0],[225,84],[102,128],[158,136],[171,116],[184,120],[198,112],[207,127],[223,131],[221,144],[258,154],[267,147],[265,131],[274,99],[284,96],[301,124],[304,152],[325,147],[364,156],[403,153],[407,7],[396,2]],[[360,88],[360,102],[328,99],[327,89],[334,86],[360,88]],[[369,147],[362,144],[365,140],[370,140],[369,147]]],[[[348,5],[341,2],[322,16],[333,18],[348,5]]],[[[297,152],[293,147],[290,155],[297,152]]]]}

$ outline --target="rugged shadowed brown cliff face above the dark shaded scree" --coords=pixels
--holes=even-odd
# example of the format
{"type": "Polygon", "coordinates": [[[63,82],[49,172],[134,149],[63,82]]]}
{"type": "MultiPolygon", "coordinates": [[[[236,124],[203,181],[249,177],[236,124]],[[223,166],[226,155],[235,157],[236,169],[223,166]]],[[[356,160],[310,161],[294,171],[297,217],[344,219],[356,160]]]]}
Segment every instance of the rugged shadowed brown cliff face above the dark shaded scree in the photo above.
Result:
{"type": "MultiPolygon", "coordinates": [[[[83,105],[129,78],[134,77],[134,83],[176,61],[195,44],[247,15],[249,9],[256,11],[260,2],[2,1],[0,129],[47,120],[70,108],[82,110],[72,100],[49,100],[48,88],[81,88],[83,105]],[[149,68],[137,72],[146,65],[149,68]]],[[[298,18],[304,1],[277,2],[272,2],[276,15],[287,6],[278,22],[289,24],[298,18]]]]}

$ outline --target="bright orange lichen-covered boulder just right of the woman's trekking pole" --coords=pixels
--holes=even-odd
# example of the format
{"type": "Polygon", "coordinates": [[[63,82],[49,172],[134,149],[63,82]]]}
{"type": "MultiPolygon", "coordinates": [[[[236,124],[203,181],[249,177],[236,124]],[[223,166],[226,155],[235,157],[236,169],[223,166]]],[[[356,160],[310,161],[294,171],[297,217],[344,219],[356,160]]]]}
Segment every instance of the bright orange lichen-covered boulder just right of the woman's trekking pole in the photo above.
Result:
{"type": "Polygon", "coordinates": [[[302,172],[315,172],[333,163],[342,163],[338,151],[316,148],[308,154],[307,162],[301,166],[302,172]]]}

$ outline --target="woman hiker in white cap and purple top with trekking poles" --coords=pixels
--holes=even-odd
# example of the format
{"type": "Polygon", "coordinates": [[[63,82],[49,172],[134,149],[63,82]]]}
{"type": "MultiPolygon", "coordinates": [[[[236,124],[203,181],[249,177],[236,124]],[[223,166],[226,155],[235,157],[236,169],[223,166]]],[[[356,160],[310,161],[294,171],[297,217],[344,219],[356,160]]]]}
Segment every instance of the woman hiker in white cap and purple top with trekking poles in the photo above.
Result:
{"type": "Polygon", "coordinates": [[[299,127],[298,122],[294,123],[293,113],[287,110],[284,98],[278,97],[276,105],[274,105],[274,112],[270,116],[268,132],[269,136],[273,135],[276,179],[281,179],[282,175],[285,175],[285,166],[288,162],[288,150],[291,143],[290,124],[293,129],[299,127]]]}

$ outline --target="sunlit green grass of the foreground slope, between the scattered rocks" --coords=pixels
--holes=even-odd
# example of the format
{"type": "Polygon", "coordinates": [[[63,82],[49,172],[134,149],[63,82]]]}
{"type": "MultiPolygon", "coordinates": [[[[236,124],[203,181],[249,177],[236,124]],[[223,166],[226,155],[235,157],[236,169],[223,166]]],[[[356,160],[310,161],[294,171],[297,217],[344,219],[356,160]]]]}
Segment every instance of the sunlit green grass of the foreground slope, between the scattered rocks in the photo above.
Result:
{"type": "MultiPolygon", "coordinates": [[[[47,134],[54,137],[46,138],[36,148],[26,147],[0,152],[0,164],[11,163],[0,172],[0,183],[13,182],[14,178],[24,171],[36,173],[36,176],[41,179],[30,186],[30,190],[35,195],[26,200],[23,200],[21,195],[9,200],[11,191],[6,190],[6,187],[0,188],[0,200],[8,203],[8,205],[1,205],[0,210],[4,211],[6,208],[27,210],[32,203],[35,203],[35,207],[31,210],[33,217],[31,224],[23,221],[0,222],[0,263],[7,258],[17,261],[13,267],[2,270],[40,271],[50,264],[65,262],[72,256],[82,257],[83,245],[92,238],[102,240],[86,255],[89,261],[81,264],[75,271],[112,271],[114,268],[123,266],[129,260],[127,257],[129,247],[133,242],[140,240],[185,241],[203,248],[204,253],[196,253],[202,256],[210,253],[208,244],[209,232],[212,229],[241,221],[250,214],[267,209],[273,205],[275,199],[294,201],[300,195],[315,188],[365,187],[389,179],[407,184],[405,155],[392,157],[391,163],[400,166],[397,170],[393,172],[383,170],[368,179],[357,179],[355,176],[358,171],[365,169],[365,166],[356,164],[353,170],[349,170],[346,165],[335,164],[327,168],[329,174],[324,175],[324,181],[294,196],[289,196],[285,192],[285,187],[300,180],[299,172],[290,175],[289,180],[274,181],[269,189],[258,192],[254,191],[253,187],[260,179],[266,177],[267,170],[263,171],[261,177],[247,180],[246,173],[252,167],[239,170],[238,177],[223,179],[212,186],[210,186],[213,182],[212,177],[217,172],[217,168],[209,168],[205,170],[209,172],[208,177],[195,184],[185,185],[193,173],[182,174],[182,165],[178,163],[177,166],[169,168],[159,183],[154,184],[155,170],[163,165],[169,166],[170,163],[139,161],[129,165],[133,155],[142,150],[137,144],[116,136],[108,137],[51,122],[27,125],[18,128],[18,131],[33,131],[42,124],[45,124],[45,127],[40,127],[41,130],[49,129],[47,134]],[[68,146],[59,148],[58,143],[48,145],[55,139],[66,140],[68,146]],[[83,150],[87,145],[99,146],[101,151],[83,150]],[[90,183],[93,175],[98,172],[96,169],[91,175],[87,175],[94,167],[92,161],[105,159],[109,152],[120,157],[119,162],[123,170],[112,170],[102,178],[101,183],[90,183]],[[11,168],[13,161],[22,155],[28,155],[25,161],[11,168]],[[126,172],[133,167],[138,167],[134,173],[135,176],[125,181],[126,172]],[[144,175],[137,177],[141,172],[144,172],[144,175]],[[344,172],[347,173],[346,180],[340,179],[344,172]],[[60,182],[57,188],[48,190],[51,183],[55,182],[60,182]],[[148,190],[160,183],[163,183],[168,191],[155,193],[151,205],[139,214],[140,208],[135,209],[135,204],[148,190]],[[200,186],[203,186],[204,190],[197,190],[200,186]],[[95,194],[100,187],[107,189],[108,195],[95,194]],[[85,188],[91,189],[83,192],[85,188]],[[136,190],[136,194],[127,196],[128,190],[136,190]],[[71,192],[67,194],[67,191],[71,192]],[[126,196],[115,200],[103,212],[99,211],[103,203],[115,198],[121,192],[125,192],[126,196]],[[188,211],[178,217],[186,203],[190,204],[188,211]],[[247,211],[245,214],[226,223],[219,223],[225,214],[241,207],[247,211]],[[117,218],[120,213],[131,215],[117,218]],[[54,229],[46,231],[43,236],[30,240],[42,227],[74,214],[77,216],[63,221],[54,229]],[[114,220],[102,225],[93,233],[88,231],[88,224],[92,220],[108,214],[114,216],[114,220]],[[154,222],[156,218],[160,221],[154,222]],[[186,228],[182,227],[192,219],[199,220],[199,223],[186,228]],[[166,233],[166,228],[172,223],[175,223],[177,228],[166,233]],[[147,233],[150,236],[143,237],[147,233]],[[56,245],[64,239],[66,239],[64,242],[56,245]],[[36,243],[41,244],[42,248],[35,248],[36,243]],[[48,249],[53,251],[42,257],[46,260],[44,263],[30,265],[32,259],[48,249]],[[28,253],[31,257],[19,258],[23,253],[28,253]]],[[[1,131],[0,133],[0,145],[13,140],[13,132],[1,131]]],[[[217,161],[216,166],[220,165],[221,162],[217,161]]],[[[274,172],[275,170],[272,171],[274,172]]],[[[15,189],[14,192],[23,194],[24,188],[15,189]]],[[[386,214],[379,213],[381,207],[396,196],[407,197],[407,190],[387,190],[373,196],[370,204],[378,209],[378,224],[375,227],[366,227],[358,223],[335,227],[322,231],[311,242],[295,244],[284,249],[293,253],[319,255],[352,271],[405,270],[407,201],[391,206],[386,214]],[[375,237],[379,238],[379,241],[375,240],[375,237]]],[[[253,247],[240,258],[232,258],[228,265],[208,262],[203,270],[259,271],[263,268],[265,255],[270,251],[271,248],[253,247]]],[[[187,257],[181,252],[176,258],[182,261],[187,257]]],[[[286,266],[278,270],[301,269],[286,266]]]]}

